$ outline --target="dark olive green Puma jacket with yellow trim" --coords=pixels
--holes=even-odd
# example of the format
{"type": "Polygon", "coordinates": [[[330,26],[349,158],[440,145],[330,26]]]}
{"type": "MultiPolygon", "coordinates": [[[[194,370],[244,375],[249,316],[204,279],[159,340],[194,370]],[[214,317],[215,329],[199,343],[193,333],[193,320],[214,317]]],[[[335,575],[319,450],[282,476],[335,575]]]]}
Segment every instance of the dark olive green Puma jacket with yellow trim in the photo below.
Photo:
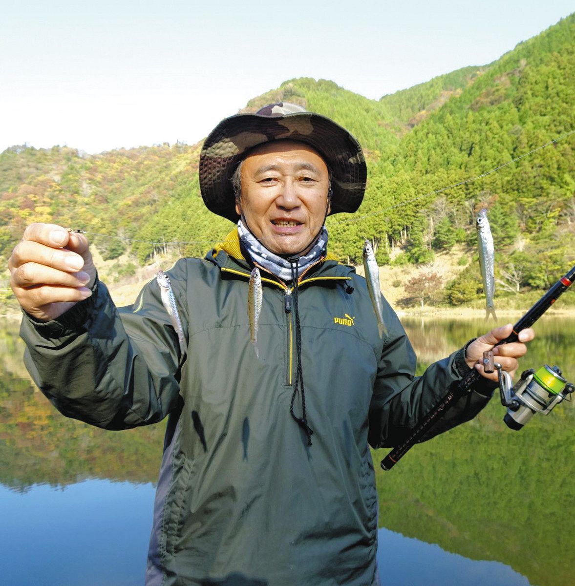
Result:
{"type": "MultiPolygon", "coordinates": [[[[128,308],[115,308],[99,283],[56,321],[25,319],[26,364],[69,417],[117,430],[169,415],[148,586],[371,585],[377,494],[368,442],[405,438],[467,372],[463,352],[414,377],[416,356],[390,306],[380,338],[365,279],[335,260],[315,265],[298,295],[309,446],[290,415],[291,290],[263,274],[257,357],[250,269],[234,231],[204,260],[168,271],[184,356],[152,280],[128,308]]],[[[441,430],[487,401],[472,393],[441,430]]]]}

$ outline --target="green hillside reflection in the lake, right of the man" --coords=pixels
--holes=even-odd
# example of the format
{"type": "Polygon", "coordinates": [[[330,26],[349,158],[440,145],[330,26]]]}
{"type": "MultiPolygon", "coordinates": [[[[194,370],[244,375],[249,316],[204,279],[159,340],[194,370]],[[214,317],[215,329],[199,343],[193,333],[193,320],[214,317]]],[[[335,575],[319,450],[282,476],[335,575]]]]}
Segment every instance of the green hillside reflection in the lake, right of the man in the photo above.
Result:
{"type": "MultiPolygon", "coordinates": [[[[404,323],[422,368],[486,329],[483,320],[404,323]]],[[[575,380],[573,326],[573,319],[537,322],[520,370],[559,364],[575,380]]],[[[532,584],[572,584],[573,407],[563,403],[515,432],[503,424],[496,397],[471,423],[416,446],[392,471],[377,472],[380,526],[474,560],[501,561],[532,584]]],[[[375,454],[376,466],[386,453],[375,454]]]]}

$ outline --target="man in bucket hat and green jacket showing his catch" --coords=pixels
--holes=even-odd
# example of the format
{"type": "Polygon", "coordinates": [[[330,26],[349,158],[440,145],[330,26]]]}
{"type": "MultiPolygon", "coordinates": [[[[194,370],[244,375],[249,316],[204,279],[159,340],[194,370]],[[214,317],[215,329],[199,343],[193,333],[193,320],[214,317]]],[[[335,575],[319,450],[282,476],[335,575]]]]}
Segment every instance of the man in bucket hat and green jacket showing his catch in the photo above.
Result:
{"type": "MultiPolygon", "coordinates": [[[[365,280],[328,253],[325,217],[355,212],[366,179],[358,142],[328,118],[286,103],[227,118],[199,172],[206,206],[237,229],[168,271],[186,352],[155,281],[118,310],[86,237],[33,224],[9,261],[26,364],[70,417],[121,429],[169,415],[148,586],[376,584],[368,441],[402,441],[509,326],[414,378],[389,304],[380,336],[365,280]],[[254,265],[259,356],[247,315],[254,265]]],[[[525,352],[494,350],[511,373],[525,352]]],[[[434,433],[485,406],[495,376],[482,375],[434,433]]]]}

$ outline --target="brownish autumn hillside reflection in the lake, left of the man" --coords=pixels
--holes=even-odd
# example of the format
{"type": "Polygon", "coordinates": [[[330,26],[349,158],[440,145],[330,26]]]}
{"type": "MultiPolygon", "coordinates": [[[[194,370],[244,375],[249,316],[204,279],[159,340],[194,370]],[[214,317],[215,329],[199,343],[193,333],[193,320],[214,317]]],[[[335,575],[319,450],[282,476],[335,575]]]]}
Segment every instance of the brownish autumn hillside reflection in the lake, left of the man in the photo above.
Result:
{"type": "Polygon", "coordinates": [[[63,417],[33,386],[18,329],[0,327],[0,483],[24,491],[86,478],[155,482],[164,424],[120,433],[63,417]]]}

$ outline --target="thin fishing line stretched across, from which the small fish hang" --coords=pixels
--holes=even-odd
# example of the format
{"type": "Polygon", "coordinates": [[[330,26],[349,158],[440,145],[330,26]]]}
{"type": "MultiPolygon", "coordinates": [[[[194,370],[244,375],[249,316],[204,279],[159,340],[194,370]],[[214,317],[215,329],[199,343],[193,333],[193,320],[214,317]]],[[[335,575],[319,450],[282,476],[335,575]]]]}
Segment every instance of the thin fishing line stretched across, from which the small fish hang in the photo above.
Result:
{"type": "MultiPolygon", "coordinates": [[[[508,161],[506,163],[503,163],[502,165],[495,167],[494,169],[491,169],[491,171],[486,171],[485,173],[481,173],[481,175],[478,175],[477,177],[474,177],[471,179],[465,179],[463,181],[460,181],[458,183],[453,183],[452,185],[448,185],[447,187],[444,187],[441,189],[435,189],[434,191],[430,191],[428,193],[425,193],[424,195],[413,197],[413,199],[408,199],[404,202],[396,203],[393,206],[389,206],[389,207],[385,207],[385,208],[382,208],[379,210],[375,210],[373,212],[365,213],[365,214],[362,214],[361,216],[353,216],[351,218],[346,218],[346,219],[342,219],[342,220],[333,220],[330,222],[330,225],[334,226],[334,225],[338,225],[338,224],[346,224],[346,223],[351,224],[354,222],[360,222],[360,220],[364,220],[368,217],[379,216],[380,214],[384,214],[386,212],[389,212],[390,210],[397,209],[398,207],[407,206],[410,203],[419,202],[420,200],[425,199],[426,197],[430,197],[432,195],[437,195],[438,193],[443,193],[444,191],[447,191],[448,189],[454,189],[454,188],[460,187],[461,185],[467,185],[468,183],[473,183],[474,181],[477,181],[477,180],[482,179],[488,175],[491,175],[492,173],[500,171],[501,169],[503,169],[504,167],[506,167],[508,165],[511,165],[512,163],[516,163],[517,161],[520,161],[521,159],[525,158],[526,156],[532,155],[534,152],[537,152],[543,148],[549,147],[550,145],[555,144],[556,142],[562,140],[563,138],[567,138],[571,134],[574,134],[574,133],[575,133],[575,130],[571,130],[569,132],[566,132],[565,134],[562,134],[560,137],[554,138],[552,141],[546,142],[544,145],[541,145],[540,147],[536,147],[536,148],[532,149],[531,151],[526,152],[525,154],[516,157],[515,159],[511,159],[511,161],[508,161]]],[[[321,228],[321,226],[312,226],[312,227],[308,228],[308,231],[314,231],[314,230],[318,230],[320,228],[321,228]]],[[[186,244],[212,244],[213,243],[213,240],[188,240],[185,242],[183,242],[183,241],[158,242],[158,241],[151,241],[151,240],[140,240],[140,239],[135,239],[135,238],[125,238],[123,236],[111,236],[110,234],[99,234],[97,232],[91,232],[91,231],[87,231],[87,230],[73,230],[73,231],[80,232],[82,234],[90,234],[91,236],[99,236],[99,237],[103,237],[103,238],[124,240],[125,242],[135,242],[135,243],[140,243],[140,244],[152,244],[152,246],[154,246],[154,247],[156,247],[156,246],[158,246],[158,247],[184,246],[186,244]]],[[[261,238],[260,242],[264,242],[266,240],[271,240],[271,237],[261,238]]]]}

